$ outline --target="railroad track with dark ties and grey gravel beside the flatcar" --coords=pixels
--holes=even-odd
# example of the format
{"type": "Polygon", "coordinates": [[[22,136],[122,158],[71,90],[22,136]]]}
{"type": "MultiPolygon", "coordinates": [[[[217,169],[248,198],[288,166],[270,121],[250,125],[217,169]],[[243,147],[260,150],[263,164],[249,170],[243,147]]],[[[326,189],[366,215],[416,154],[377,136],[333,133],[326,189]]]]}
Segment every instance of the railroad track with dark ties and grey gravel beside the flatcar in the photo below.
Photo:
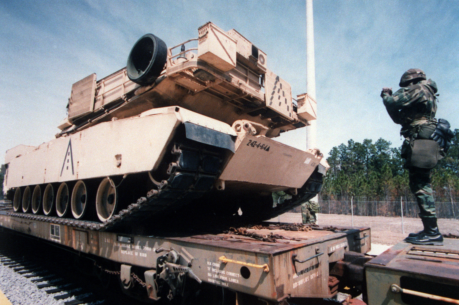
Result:
{"type": "Polygon", "coordinates": [[[136,304],[118,285],[107,284],[115,278],[106,274],[101,283],[95,274],[81,272],[94,262],[73,261],[78,256],[66,250],[9,230],[0,233],[0,288],[13,304],[136,304]]]}

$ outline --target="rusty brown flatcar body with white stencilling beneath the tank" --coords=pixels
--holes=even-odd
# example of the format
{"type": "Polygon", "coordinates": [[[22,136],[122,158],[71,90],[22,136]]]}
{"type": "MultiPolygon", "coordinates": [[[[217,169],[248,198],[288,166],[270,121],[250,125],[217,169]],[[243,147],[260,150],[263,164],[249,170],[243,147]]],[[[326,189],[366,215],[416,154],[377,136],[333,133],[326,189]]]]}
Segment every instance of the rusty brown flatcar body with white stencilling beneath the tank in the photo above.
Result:
{"type": "Polygon", "coordinates": [[[279,231],[275,234],[282,238],[275,243],[226,233],[167,238],[139,236],[24,219],[6,213],[0,213],[0,226],[66,245],[81,253],[147,269],[155,268],[164,251],[174,250],[180,257],[178,265],[188,266],[200,280],[272,301],[289,296],[325,298],[336,294],[336,283],[331,287],[329,283],[330,260],[342,258],[348,250],[362,250],[360,245],[366,241],[360,238],[364,234],[367,236],[363,240],[369,240],[369,228],[325,230],[323,227],[309,231],[260,229],[262,233],[279,231]],[[348,242],[355,238],[357,244],[348,242]]]}

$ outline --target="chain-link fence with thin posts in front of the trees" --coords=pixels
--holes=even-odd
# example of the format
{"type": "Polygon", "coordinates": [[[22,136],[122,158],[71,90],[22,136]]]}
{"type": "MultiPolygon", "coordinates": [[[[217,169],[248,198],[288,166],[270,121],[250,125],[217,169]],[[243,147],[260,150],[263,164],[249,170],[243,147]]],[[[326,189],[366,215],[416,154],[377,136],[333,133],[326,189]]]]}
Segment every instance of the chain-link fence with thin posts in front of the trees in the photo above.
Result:
{"type": "MultiPolygon", "coordinates": [[[[356,216],[418,217],[419,207],[414,197],[390,199],[368,197],[319,198],[320,213],[356,216]]],[[[437,218],[459,219],[459,198],[435,198],[437,218]]]]}

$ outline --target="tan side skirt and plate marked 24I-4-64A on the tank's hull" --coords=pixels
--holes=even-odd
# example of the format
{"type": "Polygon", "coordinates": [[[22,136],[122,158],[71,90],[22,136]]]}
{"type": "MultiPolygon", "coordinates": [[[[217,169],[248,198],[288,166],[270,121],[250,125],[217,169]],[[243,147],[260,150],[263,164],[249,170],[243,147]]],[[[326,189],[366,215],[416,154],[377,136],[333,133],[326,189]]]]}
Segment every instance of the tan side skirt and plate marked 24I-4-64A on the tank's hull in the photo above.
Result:
{"type": "MultiPolygon", "coordinates": [[[[9,156],[6,188],[154,170],[175,130],[190,121],[207,129],[213,124],[212,130],[236,136],[229,125],[179,107],[146,111],[54,139],[15,158],[9,156]]],[[[247,183],[264,185],[270,191],[276,186],[301,188],[321,161],[311,152],[263,136],[240,138],[241,144],[220,175],[220,180],[236,189],[250,188],[245,187],[247,183]]]]}

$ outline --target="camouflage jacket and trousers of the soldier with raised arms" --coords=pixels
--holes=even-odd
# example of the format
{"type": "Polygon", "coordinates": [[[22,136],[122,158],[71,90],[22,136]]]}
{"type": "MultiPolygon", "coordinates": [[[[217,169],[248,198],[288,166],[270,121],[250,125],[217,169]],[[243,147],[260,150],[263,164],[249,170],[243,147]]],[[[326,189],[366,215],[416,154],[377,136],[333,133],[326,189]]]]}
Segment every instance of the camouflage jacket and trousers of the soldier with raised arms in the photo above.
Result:
{"type": "MultiPolygon", "coordinates": [[[[407,158],[409,141],[429,139],[435,130],[437,85],[431,79],[399,89],[394,94],[381,94],[392,120],[402,125],[400,134],[405,137],[402,157],[407,158]]],[[[409,170],[409,187],[418,202],[420,218],[436,217],[432,195],[431,169],[406,165],[409,170]]]]}

